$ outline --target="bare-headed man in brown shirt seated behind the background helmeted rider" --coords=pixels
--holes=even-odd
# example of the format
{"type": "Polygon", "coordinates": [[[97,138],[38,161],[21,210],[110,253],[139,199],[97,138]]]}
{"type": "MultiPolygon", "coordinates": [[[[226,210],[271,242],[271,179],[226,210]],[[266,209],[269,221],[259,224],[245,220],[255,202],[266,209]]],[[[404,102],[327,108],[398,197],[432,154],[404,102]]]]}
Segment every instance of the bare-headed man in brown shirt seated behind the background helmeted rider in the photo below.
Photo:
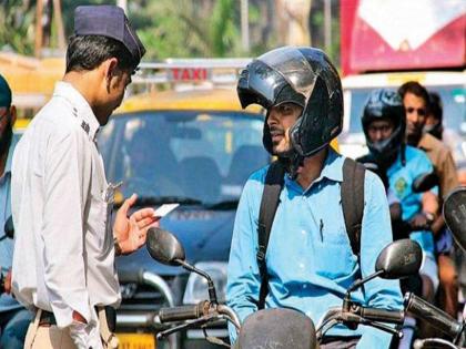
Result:
{"type": "MultiPolygon", "coordinates": [[[[439,207],[443,201],[458,184],[455,162],[452,152],[442,141],[430,133],[424,132],[427,115],[430,110],[430,99],[427,90],[418,82],[404,83],[399,90],[406,112],[407,143],[424,152],[430,158],[438,176],[439,207]]],[[[434,103],[434,111],[436,110],[434,103]]],[[[438,111],[438,107],[437,107],[438,111]]],[[[438,132],[436,132],[438,134],[438,132]]],[[[442,308],[456,318],[458,304],[458,280],[455,264],[452,258],[453,238],[445,226],[442,212],[434,213],[430,225],[436,242],[436,256],[439,276],[439,302],[442,308]]]]}

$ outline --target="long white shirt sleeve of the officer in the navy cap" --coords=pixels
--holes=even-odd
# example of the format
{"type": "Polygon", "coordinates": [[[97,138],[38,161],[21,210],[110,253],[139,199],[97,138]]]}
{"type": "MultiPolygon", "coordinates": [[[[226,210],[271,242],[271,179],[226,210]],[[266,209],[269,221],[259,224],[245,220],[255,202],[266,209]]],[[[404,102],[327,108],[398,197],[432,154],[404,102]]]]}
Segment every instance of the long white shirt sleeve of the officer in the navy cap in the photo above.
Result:
{"type": "Polygon", "coordinates": [[[72,322],[73,310],[91,319],[83,258],[83,215],[90,177],[84,168],[91,158],[82,142],[74,130],[52,133],[44,157],[44,281],[59,327],[72,322]]]}

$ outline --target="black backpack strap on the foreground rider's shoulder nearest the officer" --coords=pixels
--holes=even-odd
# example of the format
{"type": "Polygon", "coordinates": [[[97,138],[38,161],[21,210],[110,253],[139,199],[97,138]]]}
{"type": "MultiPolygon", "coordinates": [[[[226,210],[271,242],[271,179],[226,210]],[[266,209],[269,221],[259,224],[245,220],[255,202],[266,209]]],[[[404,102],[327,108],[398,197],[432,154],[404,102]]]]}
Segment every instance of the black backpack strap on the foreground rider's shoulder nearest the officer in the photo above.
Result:
{"type": "Polygon", "coordinates": [[[265,264],[269,238],[272,230],[273,219],[280,204],[280,193],[282,192],[285,167],[278,161],[274,161],[265,176],[264,192],[262,193],[261,208],[259,212],[257,225],[257,266],[261,275],[261,289],[259,294],[257,308],[264,309],[265,297],[269,294],[269,274],[265,264]]]}

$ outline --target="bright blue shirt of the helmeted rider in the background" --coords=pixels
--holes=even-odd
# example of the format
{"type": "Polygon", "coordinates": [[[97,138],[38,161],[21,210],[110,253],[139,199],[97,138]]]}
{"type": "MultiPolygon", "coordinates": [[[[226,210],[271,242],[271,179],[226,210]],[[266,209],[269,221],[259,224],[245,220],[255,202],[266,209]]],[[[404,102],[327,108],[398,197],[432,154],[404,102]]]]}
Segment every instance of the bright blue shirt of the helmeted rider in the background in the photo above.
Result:
{"type": "MultiPolygon", "coordinates": [[[[413,193],[412,185],[419,175],[434,171],[430,160],[427,155],[407,145],[405,150],[405,165],[402,164],[401,154],[387,171],[389,188],[399,199],[402,206],[403,220],[412,219],[422,212],[422,193],[413,193]]],[[[434,236],[432,232],[419,230],[409,235],[417,242],[426,254],[434,256],[434,236]]]]}

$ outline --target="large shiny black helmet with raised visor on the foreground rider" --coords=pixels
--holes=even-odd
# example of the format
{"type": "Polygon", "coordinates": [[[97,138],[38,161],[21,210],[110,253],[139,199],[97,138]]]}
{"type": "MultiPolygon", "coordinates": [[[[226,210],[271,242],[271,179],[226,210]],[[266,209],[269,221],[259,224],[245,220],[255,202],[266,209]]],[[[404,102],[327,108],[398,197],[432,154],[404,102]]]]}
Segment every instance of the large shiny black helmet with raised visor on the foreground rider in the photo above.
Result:
{"type": "MultiPolygon", "coordinates": [[[[285,47],[264,53],[242,71],[237,94],[243,107],[256,103],[269,110],[285,102],[303,107],[290,130],[293,150],[300,157],[313,155],[342,131],[342,83],[318,49],[285,47]]],[[[272,154],[266,122],[263,143],[272,154]]]]}

